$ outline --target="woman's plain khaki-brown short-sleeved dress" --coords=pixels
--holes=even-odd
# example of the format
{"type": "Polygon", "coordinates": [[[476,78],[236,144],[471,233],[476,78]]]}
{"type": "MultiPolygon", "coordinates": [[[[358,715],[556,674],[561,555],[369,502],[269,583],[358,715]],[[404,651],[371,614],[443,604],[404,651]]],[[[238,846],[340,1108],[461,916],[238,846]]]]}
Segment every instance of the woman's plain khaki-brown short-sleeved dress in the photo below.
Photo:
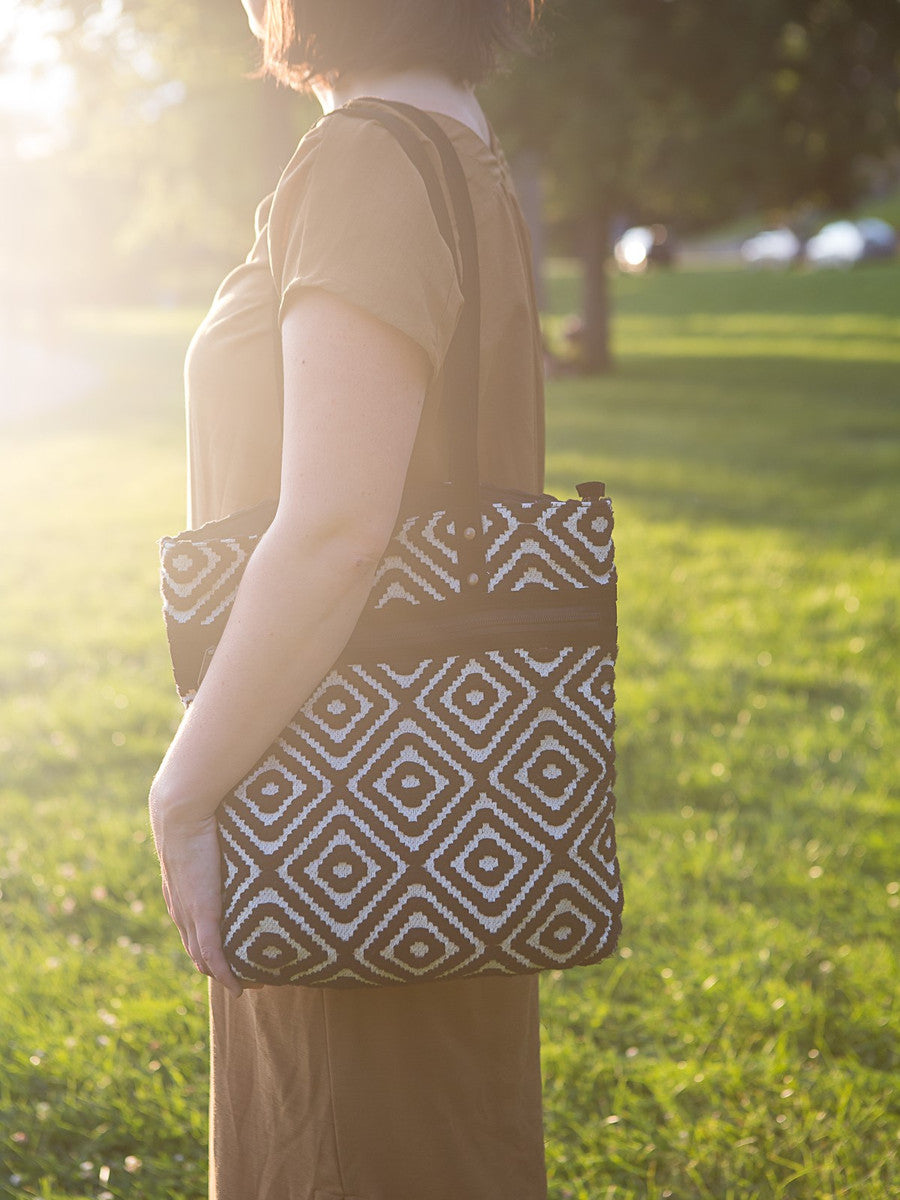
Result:
{"type": "MultiPolygon", "coordinates": [[[[481,478],[540,491],[528,235],[496,142],[434,115],[463,162],[478,227],[481,478]]],[[[191,524],[277,496],[280,319],[300,288],[340,295],[424,348],[432,379],[410,484],[446,478],[442,364],[461,296],[421,178],[391,134],[324,119],[256,224],[188,350],[191,524]]],[[[264,988],[236,1002],[212,983],[210,996],[217,1200],[546,1196],[536,977],[264,988]]]]}

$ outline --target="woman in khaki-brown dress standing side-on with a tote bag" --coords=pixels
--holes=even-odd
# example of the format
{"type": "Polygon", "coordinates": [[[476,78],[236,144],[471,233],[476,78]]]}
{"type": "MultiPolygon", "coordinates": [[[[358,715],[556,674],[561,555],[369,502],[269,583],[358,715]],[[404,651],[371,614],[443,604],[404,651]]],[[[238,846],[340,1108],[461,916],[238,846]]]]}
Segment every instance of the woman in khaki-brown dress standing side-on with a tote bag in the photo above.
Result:
{"type": "MultiPolygon", "coordinates": [[[[244,4],[268,70],[326,114],[402,101],[452,139],[481,259],[481,476],[540,491],[528,238],[472,91],[520,2],[244,4]]],[[[343,648],[406,484],[445,478],[442,364],[461,302],[415,168],[380,125],[337,115],[260,204],[188,352],[191,523],[278,499],[150,796],[166,901],[210,976],[218,1200],[546,1196],[534,977],[241,995],[220,937],[216,808],[343,648]]]]}

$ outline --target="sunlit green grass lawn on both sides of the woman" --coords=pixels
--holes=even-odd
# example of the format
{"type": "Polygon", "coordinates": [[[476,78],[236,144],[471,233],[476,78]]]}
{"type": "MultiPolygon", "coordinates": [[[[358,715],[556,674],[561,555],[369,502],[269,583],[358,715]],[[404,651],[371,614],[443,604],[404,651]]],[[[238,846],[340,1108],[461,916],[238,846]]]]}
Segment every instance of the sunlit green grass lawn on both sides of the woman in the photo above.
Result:
{"type": "MultiPolygon", "coordinates": [[[[551,1196],[888,1200],[900,268],[617,289],[618,372],[548,396],[550,486],[617,510],[626,889],[619,955],[544,980],[551,1196]]],[[[205,1194],[143,810],[194,319],[72,317],[102,384],[0,426],[0,1196],[205,1194]]]]}

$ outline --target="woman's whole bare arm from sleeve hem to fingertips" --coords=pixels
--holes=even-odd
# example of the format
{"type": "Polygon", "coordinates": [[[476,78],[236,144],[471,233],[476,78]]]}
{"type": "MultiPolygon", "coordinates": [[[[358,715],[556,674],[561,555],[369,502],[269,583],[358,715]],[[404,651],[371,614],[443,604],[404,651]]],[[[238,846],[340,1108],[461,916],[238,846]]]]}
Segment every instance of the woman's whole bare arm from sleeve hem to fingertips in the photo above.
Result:
{"type": "Polygon", "coordinates": [[[198,968],[235,991],[218,938],[215,810],[356,624],[396,521],[428,378],[414,342],[320,290],[290,305],[282,346],[278,510],[150,792],[169,911],[198,968]]]}

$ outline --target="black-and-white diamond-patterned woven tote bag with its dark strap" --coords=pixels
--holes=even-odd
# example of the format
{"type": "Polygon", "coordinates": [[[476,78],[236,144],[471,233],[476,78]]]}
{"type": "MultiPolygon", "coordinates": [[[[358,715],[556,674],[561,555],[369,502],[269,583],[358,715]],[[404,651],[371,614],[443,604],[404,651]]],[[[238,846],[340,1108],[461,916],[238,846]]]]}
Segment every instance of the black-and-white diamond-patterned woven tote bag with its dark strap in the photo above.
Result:
{"type": "MultiPolygon", "coordinates": [[[[457,260],[451,478],[401,516],[341,658],[220,806],[226,954],[241,980],[312,986],[596,962],[623,902],[610,500],[601,484],[563,500],[480,484],[478,244],[462,167],[418,109],[358,101],[330,119],[352,116],[397,139],[457,260]]],[[[161,542],[185,703],[274,510],[161,542]]]]}

